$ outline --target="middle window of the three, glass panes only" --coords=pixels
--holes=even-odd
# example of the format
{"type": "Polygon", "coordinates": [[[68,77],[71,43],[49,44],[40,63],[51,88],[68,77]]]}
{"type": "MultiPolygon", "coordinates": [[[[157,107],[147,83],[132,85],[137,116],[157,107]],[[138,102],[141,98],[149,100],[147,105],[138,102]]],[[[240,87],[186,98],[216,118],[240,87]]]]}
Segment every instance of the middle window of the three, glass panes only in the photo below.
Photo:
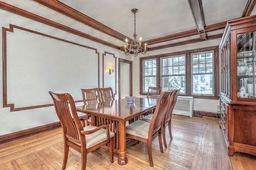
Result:
{"type": "Polygon", "coordinates": [[[179,89],[185,93],[185,55],[161,58],[162,91],[179,89]]]}

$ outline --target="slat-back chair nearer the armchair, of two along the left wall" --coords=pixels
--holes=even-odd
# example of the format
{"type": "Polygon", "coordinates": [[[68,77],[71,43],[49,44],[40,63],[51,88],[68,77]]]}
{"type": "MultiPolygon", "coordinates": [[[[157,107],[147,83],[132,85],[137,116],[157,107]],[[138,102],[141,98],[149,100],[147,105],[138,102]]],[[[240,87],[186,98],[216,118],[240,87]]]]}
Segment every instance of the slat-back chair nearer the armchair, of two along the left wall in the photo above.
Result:
{"type": "MultiPolygon", "coordinates": [[[[98,88],[81,89],[81,91],[84,100],[84,105],[91,105],[101,102],[100,90],[98,88]]],[[[91,117],[88,113],[86,113],[86,125],[92,125],[91,117]]]]}

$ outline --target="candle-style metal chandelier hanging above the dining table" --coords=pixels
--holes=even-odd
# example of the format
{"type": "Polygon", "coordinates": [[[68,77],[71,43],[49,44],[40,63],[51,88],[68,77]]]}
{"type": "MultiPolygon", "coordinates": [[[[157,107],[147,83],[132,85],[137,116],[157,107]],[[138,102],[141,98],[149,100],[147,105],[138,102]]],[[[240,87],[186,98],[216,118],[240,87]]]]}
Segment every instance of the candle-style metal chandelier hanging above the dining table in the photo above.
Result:
{"type": "Polygon", "coordinates": [[[125,45],[124,45],[124,53],[126,55],[129,55],[130,53],[134,54],[134,57],[137,57],[139,53],[146,54],[147,52],[147,44],[145,43],[144,48],[142,48],[141,45],[141,37],[140,41],[137,40],[137,34],[136,34],[136,12],[138,12],[138,9],[134,8],[132,9],[132,13],[134,13],[134,34],[133,34],[133,40],[130,45],[128,45],[128,40],[126,38],[125,45]]]}

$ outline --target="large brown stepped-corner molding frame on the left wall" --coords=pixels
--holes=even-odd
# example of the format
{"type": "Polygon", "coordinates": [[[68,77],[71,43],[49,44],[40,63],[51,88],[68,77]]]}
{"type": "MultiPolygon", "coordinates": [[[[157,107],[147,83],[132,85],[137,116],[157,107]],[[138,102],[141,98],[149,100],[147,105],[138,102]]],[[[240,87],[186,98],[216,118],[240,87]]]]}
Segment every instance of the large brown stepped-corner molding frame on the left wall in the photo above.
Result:
{"type": "MultiPolygon", "coordinates": [[[[7,77],[7,63],[6,63],[7,56],[8,56],[8,54],[7,54],[7,32],[12,32],[13,33],[14,28],[19,29],[19,30],[23,30],[23,31],[26,31],[26,32],[30,32],[30,33],[33,33],[33,34],[38,34],[40,36],[45,36],[47,38],[51,38],[51,39],[58,40],[58,41],[61,41],[61,42],[66,42],[66,43],[70,43],[70,44],[73,44],[73,45],[78,45],[80,47],[84,47],[84,48],[87,48],[87,49],[94,50],[96,55],[98,56],[98,87],[100,87],[100,72],[99,72],[100,55],[97,52],[97,49],[10,24],[10,28],[2,28],[3,107],[10,107],[10,111],[20,111],[20,110],[26,110],[26,109],[35,109],[35,108],[40,108],[40,107],[53,106],[53,104],[44,104],[44,105],[35,105],[35,106],[30,106],[30,107],[15,108],[14,103],[7,103],[7,79],[8,79],[8,77],[7,77]]],[[[75,102],[82,102],[82,101],[83,100],[77,100],[75,102]]]]}

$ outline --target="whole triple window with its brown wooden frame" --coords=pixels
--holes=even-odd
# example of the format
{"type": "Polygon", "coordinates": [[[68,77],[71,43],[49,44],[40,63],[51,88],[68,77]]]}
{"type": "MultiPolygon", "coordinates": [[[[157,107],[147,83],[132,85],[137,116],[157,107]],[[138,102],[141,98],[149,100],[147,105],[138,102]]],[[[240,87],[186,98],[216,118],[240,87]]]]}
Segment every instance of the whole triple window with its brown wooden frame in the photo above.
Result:
{"type": "Polygon", "coordinates": [[[140,94],[149,86],[180,95],[218,99],[218,46],[140,58],[140,94]]]}

